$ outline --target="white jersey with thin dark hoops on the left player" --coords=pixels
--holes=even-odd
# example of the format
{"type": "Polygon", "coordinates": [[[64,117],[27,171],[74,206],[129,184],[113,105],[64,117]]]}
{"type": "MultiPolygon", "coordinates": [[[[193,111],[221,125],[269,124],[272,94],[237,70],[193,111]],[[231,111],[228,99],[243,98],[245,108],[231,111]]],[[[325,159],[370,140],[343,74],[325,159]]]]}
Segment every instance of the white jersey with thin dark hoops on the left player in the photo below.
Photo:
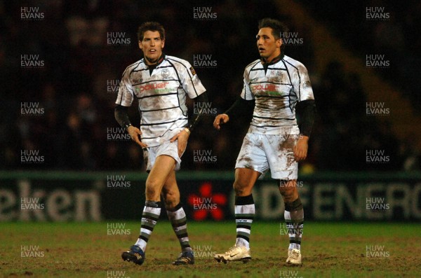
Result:
{"type": "Polygon", "coordinates": [[[189,62],[163,55],[152,75],[144,59],[126,68],[116,104],[131,106],[138,99],[142,142],[157,146],[187,125],[186,95],[194,99],[205,91],[189,62]]]}

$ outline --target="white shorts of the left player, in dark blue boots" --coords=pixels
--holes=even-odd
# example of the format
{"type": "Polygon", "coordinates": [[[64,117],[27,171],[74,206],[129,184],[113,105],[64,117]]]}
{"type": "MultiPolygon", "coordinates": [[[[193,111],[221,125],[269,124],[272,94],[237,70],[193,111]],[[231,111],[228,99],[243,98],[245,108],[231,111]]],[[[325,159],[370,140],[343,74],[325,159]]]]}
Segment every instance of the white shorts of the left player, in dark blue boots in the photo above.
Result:
{"type": "Polygon", "coordinates": [[[148,173],[154,167],[155,160],[159,155],[171,156],[175,160],[175,171],[180,169],[181,158],[178,156],[178,140],[172,143],[168,140],[159,146],[143,148],[143,159],[145,160],[148,173]]]}

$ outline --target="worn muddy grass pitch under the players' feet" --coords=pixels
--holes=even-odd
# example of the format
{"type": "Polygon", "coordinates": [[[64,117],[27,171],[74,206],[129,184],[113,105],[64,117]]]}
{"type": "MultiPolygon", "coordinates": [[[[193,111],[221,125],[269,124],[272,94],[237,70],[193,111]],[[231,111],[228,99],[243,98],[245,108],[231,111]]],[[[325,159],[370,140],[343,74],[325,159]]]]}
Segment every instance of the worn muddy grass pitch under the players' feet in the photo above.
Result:
{"type": "Polygon", "coordinates": [[[171,265],[180,247],[168,221],[157,223],[141,266],[121,260],[121,252],[137,239],[140,222],[0,223],[0,273],[102,278],[421,277],[419,223],[307,222],[300,267],[285,263],[288,236],[281,223],[255,221],[250,239],[253,260],[224,264],[217,263],[213,253],[234,244],[234,221],[189,221],[196,263],[187,266],[171,265]]]}

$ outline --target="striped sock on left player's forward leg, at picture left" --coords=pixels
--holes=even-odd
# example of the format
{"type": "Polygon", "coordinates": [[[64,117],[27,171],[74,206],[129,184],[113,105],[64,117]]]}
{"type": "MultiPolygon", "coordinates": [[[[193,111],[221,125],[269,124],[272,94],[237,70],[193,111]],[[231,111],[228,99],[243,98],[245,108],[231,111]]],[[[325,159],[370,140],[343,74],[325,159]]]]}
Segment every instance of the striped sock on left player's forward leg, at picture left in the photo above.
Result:
{"type": "Polygon", "coordinates": [[[146,201],[142,213],[142,223],[140,224],[140,235],[135,245],[138,245],[145,252],[147,241],[152,235],[152,231],[161,214],[161,202],[146,201]]]}

